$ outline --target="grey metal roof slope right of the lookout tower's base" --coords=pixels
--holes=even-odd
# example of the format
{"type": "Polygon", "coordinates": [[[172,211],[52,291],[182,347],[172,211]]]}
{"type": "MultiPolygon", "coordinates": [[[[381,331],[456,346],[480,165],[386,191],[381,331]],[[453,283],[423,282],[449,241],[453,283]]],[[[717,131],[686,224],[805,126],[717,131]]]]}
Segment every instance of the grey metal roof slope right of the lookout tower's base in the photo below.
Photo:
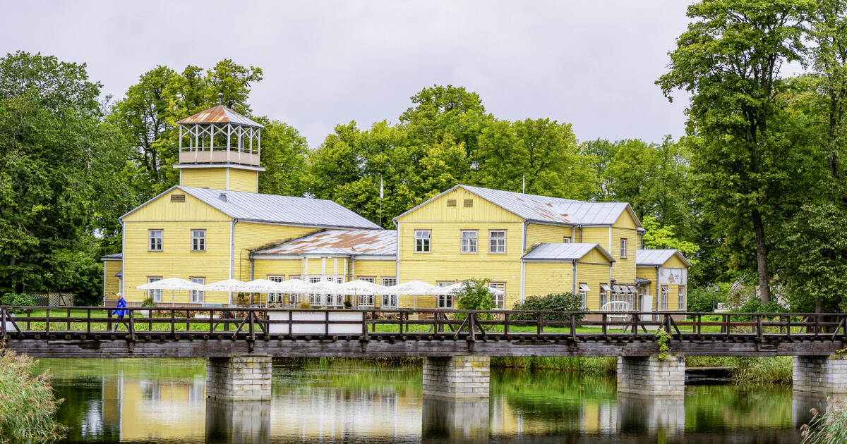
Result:
{"type": "MultiPolygon", "coordinates": [[[[229,217],[254,222],[381,229],[332,200],[177,186],[229,217]],[[225,199],[225,200],[224,200],[225,199]]],[[[128,213],[129,214],[129,213],[128,213]]]]}

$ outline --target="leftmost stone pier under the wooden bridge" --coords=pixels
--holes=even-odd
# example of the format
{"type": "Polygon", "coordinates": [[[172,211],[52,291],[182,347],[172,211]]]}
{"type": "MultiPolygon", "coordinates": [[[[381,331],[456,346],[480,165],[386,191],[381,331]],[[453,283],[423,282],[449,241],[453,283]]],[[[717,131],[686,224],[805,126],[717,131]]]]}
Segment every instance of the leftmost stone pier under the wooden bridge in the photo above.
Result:
{"type": "Polygon", "coordinates": [[[263,401],[270,393],[271,359],[233,356],[206,359],[206,396],[235,401],[263,401]]]}

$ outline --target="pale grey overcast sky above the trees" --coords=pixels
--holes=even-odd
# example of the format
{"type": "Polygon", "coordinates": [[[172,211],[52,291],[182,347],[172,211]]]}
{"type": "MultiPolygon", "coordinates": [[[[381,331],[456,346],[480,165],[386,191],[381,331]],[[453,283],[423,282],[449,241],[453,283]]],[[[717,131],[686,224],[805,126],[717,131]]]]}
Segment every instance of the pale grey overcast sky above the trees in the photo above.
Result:
{"type": "Polygon", "coordinates": [[[463,85],[497,118],[573,123],[579,140],[684,133],[654,81],[688,23],[682,0],[10,2],[0,52],[88,63],[119,98],[158,64],[261,67],[253,112],[311,146],[339,123],[396,122],[425,86],[463,85]]]}

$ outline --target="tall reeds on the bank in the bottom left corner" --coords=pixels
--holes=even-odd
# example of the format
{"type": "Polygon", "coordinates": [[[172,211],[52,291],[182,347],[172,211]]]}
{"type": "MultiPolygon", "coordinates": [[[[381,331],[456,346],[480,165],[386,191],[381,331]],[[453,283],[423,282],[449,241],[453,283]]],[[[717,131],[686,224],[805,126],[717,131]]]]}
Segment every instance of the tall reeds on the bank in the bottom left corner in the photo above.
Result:
{"type": "Polygon", "coordinates": [[[33,375],[35,361],[0,349],[0,442],[49,442],[64,436],[56,420],[58,401],[47,371],[33,375]]]}

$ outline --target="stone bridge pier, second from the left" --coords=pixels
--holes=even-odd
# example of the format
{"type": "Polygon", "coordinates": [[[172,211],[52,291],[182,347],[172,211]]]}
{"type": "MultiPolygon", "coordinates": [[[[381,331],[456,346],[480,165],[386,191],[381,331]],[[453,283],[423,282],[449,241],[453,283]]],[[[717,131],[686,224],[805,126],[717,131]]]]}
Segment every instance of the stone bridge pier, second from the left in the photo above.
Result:
{"type": "Polygon", "coordinates": [[[488,397],[491,358],[450,356],[424,360],[424,395],[488,397]]]}

